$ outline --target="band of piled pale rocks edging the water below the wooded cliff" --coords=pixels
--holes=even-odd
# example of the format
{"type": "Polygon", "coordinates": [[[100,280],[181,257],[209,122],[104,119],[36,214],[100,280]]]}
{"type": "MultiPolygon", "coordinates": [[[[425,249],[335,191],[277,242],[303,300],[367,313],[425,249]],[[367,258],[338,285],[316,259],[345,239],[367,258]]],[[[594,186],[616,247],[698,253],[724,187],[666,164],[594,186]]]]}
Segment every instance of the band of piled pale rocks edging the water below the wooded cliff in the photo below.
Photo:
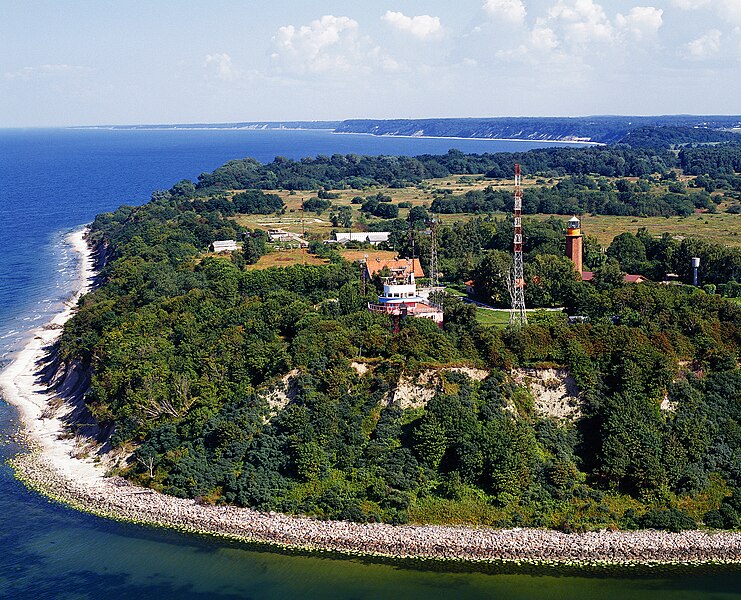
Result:
{"type": "Polygon", "coordinates": [[[62,475],[39,453],[16,460],[32,487],[101,516],[252,543],[402,559],[540,564],[741,564],[741,533],[598,531],[393,526],[319,521],[233,506],[199,504],[118,478],[83,483],[62,475]]]}

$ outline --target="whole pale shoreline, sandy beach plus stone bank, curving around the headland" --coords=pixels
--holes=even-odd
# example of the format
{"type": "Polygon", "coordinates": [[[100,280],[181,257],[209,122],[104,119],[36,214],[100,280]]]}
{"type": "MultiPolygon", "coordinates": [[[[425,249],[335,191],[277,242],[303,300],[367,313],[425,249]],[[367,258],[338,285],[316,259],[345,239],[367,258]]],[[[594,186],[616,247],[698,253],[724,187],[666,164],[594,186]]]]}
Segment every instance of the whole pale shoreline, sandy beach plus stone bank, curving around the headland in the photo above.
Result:
{"type": "MultiPolygon", "coordinates": [[[[81,440],[67,432],[65,417],[75,407],[61,403],[60,408],[52,410],[61,398],[40,373],[50,362],[50,346],[73,314],[80,296],[92,286],[95,271],[85,231],[68,236],[81,256],[79,290],[50,323],[31,331],[26,346],[0,372],[3,397],[18,408],[31,449],[16,456],[12,466],[18,479],[41,494],[118,521],[167,527],[273,551],[364,558],[415,568],[447,569],[455,564],[464,570],[523,572],[741,566],[741,532],[603,530],[566,534],[545,529],[319,521],[206,505],[140,488],[120,477],[107,477],[106,461],[86,456],[81,440]]],[[[62,387],[69,376],[67,373],[62,387]]],[[[76,378],[79,382],[79,376],[76,378]]]]}

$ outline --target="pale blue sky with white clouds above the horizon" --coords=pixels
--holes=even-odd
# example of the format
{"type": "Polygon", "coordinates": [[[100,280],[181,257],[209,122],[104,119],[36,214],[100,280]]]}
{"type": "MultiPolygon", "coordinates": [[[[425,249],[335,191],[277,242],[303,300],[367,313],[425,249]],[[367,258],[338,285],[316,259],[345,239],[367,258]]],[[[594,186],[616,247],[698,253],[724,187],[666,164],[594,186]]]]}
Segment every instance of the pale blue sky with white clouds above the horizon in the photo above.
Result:
{"type": "Polygon", "coordinates": [[[741,0],[0,0],[0,127],[741,113],[741,0]]]}

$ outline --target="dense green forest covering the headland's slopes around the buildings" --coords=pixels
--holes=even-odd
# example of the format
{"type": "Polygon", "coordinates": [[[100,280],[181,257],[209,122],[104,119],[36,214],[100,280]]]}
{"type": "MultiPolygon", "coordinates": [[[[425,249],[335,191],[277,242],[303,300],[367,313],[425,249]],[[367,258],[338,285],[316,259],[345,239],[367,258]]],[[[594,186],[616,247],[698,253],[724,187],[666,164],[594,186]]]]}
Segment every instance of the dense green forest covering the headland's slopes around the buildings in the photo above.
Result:
{"type": "MultiPolygon", "coordinates": [[[[707,164],[720,161],[707,152],[707,164]]],[[[626,148],[518,156],[532,174],[570,173],[574,183],[592,173],[598,186],[608,167],[660,177],[680,160],[626,148]]],[[[90,239],[108,256],[103,283],[65,326],[60,356],[91,369],[85,402],[110,444],[132,452],[122,474],[202,502],[320,518],[739,527],[741,306],[716,293],[737,295],[738,251],[638,231],[605,254],[587,239],[595,281],[585,283],[563,258],[562,222],[526,222],[528,303],[564,312],[497,329],[444,296],[442,329],[407,319],[393,333],[388,317],[366,310],[377,288],[363,294],[358,266],[335,253],[320,266],[245,270],[266,251],[265,237],[231,217],[273,195],[222,193],[267,188],[268,179],[273,188],[351,185],[359,165],[364,180],[410,181],[440,165],[480,173],[514,160],[451,152],[234,161],[197,186],[181,182],[143,206],[99,215],[90,239]],[[243,250],[205,255],[229,238],[244,239],[243,250]],[[686,259],[697,255],[705,288],[623,283],[628,269],[676,271],[686,282],[686,259]],[[568,315],[583,318],[570,324],[568,315]],[[486,376],[455,370],[463,366],[486,376]],[[528,368],[570,373],[579,390],[573,418],[538,409],[528,368]],[[430,371],[438,383],[426,403],[392,401],[400,380],[430,371]],[[285,401],[276,402],[282,379],[285,401]]],[[[423,231],[388,225],[402,255],[414,242],[424,256],[423,231]]],[[[479,293],[506,304],[510,227],[489,217],[441,226],[449,282],[474,277],[479,293]]]]}

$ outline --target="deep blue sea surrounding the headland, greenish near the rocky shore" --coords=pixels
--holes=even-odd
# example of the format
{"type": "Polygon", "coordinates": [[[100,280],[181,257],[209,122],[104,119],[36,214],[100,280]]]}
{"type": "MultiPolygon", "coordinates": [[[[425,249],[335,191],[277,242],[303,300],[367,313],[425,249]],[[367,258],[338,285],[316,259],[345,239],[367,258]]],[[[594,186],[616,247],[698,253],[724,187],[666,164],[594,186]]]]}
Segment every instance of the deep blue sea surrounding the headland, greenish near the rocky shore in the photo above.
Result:
{"type": "MultiPolygon", "coordinates": [[[[66,236],[96,214],[146,202],[227,160],[335,153],[522,151],[539,142],[375,137],[296,130],[0,130],[0,366],[73,293],[66,236]]],[[[741,572],[477,574],[272,552],[118,523],[29,491],[6,460],[22,451],[0,401],[0,599],[724,600],[741,572]]]]}

